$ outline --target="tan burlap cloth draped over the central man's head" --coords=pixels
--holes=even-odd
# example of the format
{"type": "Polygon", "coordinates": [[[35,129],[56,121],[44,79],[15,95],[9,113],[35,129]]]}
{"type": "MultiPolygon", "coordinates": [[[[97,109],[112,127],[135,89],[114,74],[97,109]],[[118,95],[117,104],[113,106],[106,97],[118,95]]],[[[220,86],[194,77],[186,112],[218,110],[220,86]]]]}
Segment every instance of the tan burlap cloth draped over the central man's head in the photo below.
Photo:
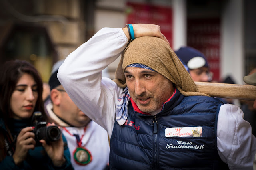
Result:
{"type": "Polygon", "coordinates": [[[180,59],[170,45],[161,38],[140,37],[128,44],[116,69],[116,79],[113,80],[119,87],[126,87],[124,69],[134,63],[144,64],[154,69],[172,81],[185,96],[208,96],[199,92],[180,59]]]}

